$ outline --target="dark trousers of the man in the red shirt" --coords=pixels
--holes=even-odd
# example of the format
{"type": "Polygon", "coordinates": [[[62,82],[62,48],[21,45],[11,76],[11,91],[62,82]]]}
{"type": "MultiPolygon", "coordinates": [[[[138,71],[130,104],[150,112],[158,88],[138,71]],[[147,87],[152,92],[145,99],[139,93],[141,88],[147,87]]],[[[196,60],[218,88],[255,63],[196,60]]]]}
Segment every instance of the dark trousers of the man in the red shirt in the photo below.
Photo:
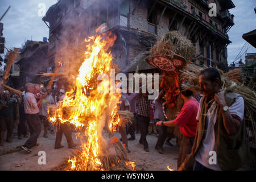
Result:
{"type": "MultiPolygon", "coordinates": [[[[184,162],[186,155],[191,153],[194,139],[195,138],[186,137],[186,136],[182,135],[179,156],[177,159],[177,168],[179,168],[180,165],[184,162]]],[[[191,168],[191,170],[192,170],[192,168],[191,168]]]]}

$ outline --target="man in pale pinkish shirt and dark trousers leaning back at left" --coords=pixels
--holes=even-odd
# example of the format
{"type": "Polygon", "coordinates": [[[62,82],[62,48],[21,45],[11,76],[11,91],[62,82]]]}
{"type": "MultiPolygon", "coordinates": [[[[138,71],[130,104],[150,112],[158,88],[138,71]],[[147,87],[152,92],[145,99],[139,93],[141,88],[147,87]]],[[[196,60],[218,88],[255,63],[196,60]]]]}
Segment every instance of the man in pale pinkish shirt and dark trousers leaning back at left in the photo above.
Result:
{"type": "Polygon", "coordinates": [[[28,154],[31,154],[31,148],[36,146],[36,142],[41,133],[41,121],[39,118],[39,108],[36,98],[34,96],[35,86],[31,83],[25,85],[26,93],[24,95],[24,111],[26,114],[26,119],[28,127],[30,129],[30,138],[22,146],[22,149],[28,154]]]}

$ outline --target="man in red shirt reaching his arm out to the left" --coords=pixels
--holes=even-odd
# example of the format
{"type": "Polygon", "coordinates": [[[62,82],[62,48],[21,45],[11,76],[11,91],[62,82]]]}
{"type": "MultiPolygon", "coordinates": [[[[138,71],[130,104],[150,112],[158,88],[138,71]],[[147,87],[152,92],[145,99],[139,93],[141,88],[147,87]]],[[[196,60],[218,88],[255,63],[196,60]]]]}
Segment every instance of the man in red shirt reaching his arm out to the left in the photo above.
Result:
{"type": "Polygon", "coordinates": [[[193,146],[194,138],[196,137],[196,115],[199,109],[199,102],[193,97],[193,92],[190,90],[185,90],[181,92],[181,97],[184,100],[184,105],[180,110],[177,118],[172,121],[159,121],[156,125],[180,127],[180,133],[182,134],[179,157],[177,159],[177,168],[183,163],[185,156],[191,153],[191,148],[193,146]]]}

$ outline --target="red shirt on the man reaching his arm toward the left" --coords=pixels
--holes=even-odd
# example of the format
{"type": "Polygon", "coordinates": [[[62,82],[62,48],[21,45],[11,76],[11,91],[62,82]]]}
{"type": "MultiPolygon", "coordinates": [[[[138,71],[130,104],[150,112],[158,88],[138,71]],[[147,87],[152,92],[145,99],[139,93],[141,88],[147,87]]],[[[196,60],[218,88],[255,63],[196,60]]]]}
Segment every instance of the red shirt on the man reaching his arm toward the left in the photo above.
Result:
{"type": "Polygon", "coordinates": [[[174,122],[180,127],[180,133],[186,137],[196,137],[196,115],[199,109],[199,102],[195,98],[192,98],[188,102],[185,102],[179,115],[174,122]]]}

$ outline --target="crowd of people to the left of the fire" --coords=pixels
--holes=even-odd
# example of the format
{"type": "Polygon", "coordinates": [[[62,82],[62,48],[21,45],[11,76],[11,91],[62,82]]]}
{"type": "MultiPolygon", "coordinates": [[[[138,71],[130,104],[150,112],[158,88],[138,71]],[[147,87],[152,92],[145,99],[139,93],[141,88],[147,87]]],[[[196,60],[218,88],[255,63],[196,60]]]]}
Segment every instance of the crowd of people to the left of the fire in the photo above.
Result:
{"type": "MultiPolygon", "coordinates": [[[[44,88],[39,84],[27,83],[19,89],[22,95],[3,90],[0,94],[0,146],[6,142],[13,142],[14,123],[18,120],[18,139],[28,138],[26,143],[20,146],[28,154],[31,148],[38,146],[38,137],[43,126],[43,137],[48,138],[48,131],[54,135],[55,126],[48,120],[48,106],[57,105],[65,96],[64,89],[57,92],[52,88],[44,88]],[[30,134],[30,135],[29,135],[30,134]]],[[[61,145],[63,133],[69,148],[75,148],[76,143],[72,139],[72,127],[68,124],[56,126],[55,149],[64,147],[61,145]]]]}

